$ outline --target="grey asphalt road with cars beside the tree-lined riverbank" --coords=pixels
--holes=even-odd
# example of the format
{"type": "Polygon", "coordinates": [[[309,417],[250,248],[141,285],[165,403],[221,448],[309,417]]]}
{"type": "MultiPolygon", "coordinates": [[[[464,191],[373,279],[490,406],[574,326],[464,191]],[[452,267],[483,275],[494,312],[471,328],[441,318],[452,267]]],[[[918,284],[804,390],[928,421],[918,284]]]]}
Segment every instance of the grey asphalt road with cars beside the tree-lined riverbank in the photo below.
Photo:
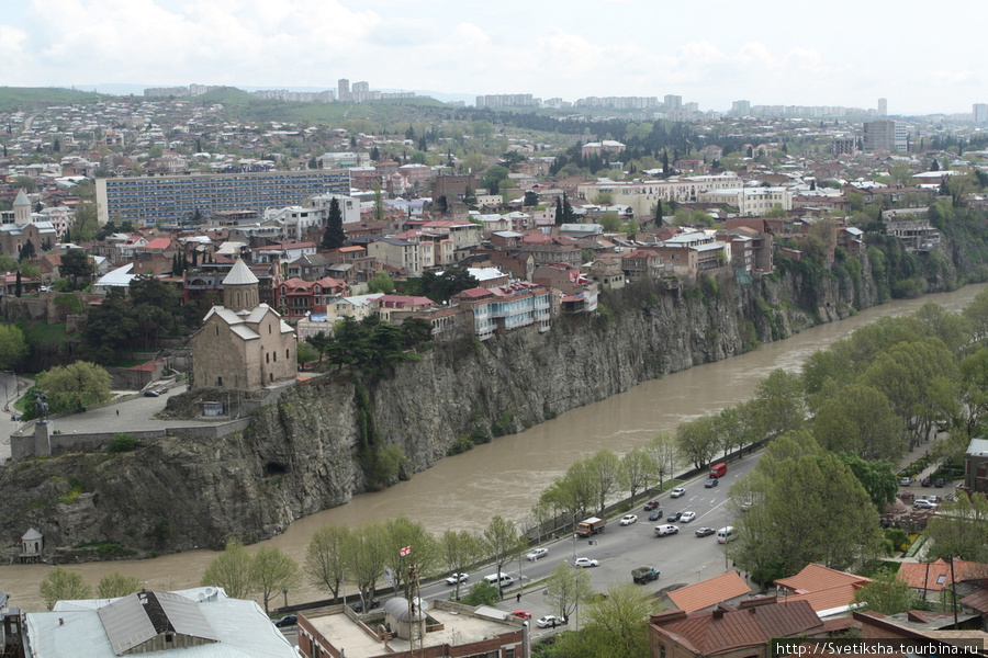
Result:
{"type": "MultiPolygon", "coordinates": [[[[549,549],[549,554],[535,563],[523,559],[519,565],[518,560],[513,560],[505,566],[504,571],[515,579],[515,583],[506,590],[505,599],[498,608],[508,612],[530,612],[534,620],[553,614],[554,611],[550,610],[544,597],[544,587],[532,583],[547,578],[561,561],[573,564],[576,557],[590,557],[599,561],[599,566],[587,569],[591,586],[597,591],[606,591],[611,582],[631,582],[631,570],[643,565],[662,571],[659,580],[642,586],[656,595],[662,590],[693,585],[726,572],[732,567],[725,561],[723,545],[717,543],[715,535],[697,537],[694,531],[705,525],[716,530],[731,524],[733,517],[726,508],[728,492],[734,481],[754,467],[760,456],[761,453],[757,453],[730,463],[727,475],[717,487],[705,488],[706,478],[700,477],[683,485],[686,494],[681,498],[671,498],[669,494],[659,497],[663,511],[661,523],[666,523],[665,517],[673,512],[696,512],[694,521],[674,523],[680,526],[678,534],[655,536],[654,527],[660,521],[648,520],[649,512],[642,509],[647,499],[642,499],[630,512],[638,514],[638,521],[631,525],[621,526],[618,524],[619,519],[615,518],[608,520],[603,533],[588,540],[569,535],[542,544],[549,549]],[[521,600],[517,601],[519,576],[523,594],[521,600]]],[[[471,574],[470,580],[460,586],[460,595],[464,595],[471,585],[493,572],[494,567],[490,566],[471,574]]],[[[426,599],[447,599],[452,592],[453,586],[445,582],[422,588],[422,594],[426,599]]],[[[575,623],[579,622],[577,613],[575,623]]],[[[549,632],[551,631],[539,629],[532,624],[534,637],[549,632]]]]}

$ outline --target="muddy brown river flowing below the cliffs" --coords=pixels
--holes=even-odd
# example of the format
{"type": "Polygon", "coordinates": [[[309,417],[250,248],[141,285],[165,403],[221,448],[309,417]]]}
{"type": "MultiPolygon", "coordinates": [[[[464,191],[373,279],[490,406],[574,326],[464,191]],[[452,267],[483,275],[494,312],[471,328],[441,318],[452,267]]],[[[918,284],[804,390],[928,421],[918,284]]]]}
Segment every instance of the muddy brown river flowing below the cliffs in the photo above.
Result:
{"type": "MultiPolygon", "coordinates": [[[[896,300],[865,310],[842,322],[815,327],[754,352],[693,367],[645,382],[620,395],[588,405],[536,426],[520,434],[502,436],[470,452],[442,460],[411,480],[377,494],[363,494],[336,509],[295,521],[283,534],[251,546],[278,546],[300,564],[313,531],[324,523],[359,525],[371,519],[405,514],[439,534],[447,529],[481,530],[494,514],[525,523],[541,490],[552,478],[587,454],[608,446],[618,454],[647,443],[656,432],[674,432],[683,420],[743,401],[760,379],[782,367],[798,370],[818,349],[850,336],[883,316],[898,316],[934,302],[959,310],[988,284],[969,285],[953,293],[896,300]]],[[[210,551],[192,551],[155,559],[90,563],[68,568],[96,587],[112,571],[136,576],[149,589],[195,587],[210,551]]],[[[52,567],[0,567],[0,591],[11,605],[44,610],[37,587],[52,567]]],[[[324,598],[304,585],[289,592],[289,603],[324,598]]],[[[281,599],[279,598],[279,603],[281,599]]]]}

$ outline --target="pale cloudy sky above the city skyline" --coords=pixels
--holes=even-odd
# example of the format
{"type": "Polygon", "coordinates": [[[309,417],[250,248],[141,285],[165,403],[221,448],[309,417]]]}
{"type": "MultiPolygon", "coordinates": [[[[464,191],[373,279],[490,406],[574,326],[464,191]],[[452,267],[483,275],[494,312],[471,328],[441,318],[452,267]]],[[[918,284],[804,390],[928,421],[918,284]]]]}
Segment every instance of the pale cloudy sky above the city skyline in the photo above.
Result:
{"type": "Polygon", "coordinates": [[[4,0],[0,84],[677,94],[700,110],[988,102],[985,0],[4,0]],[[947,15],[952,16],[947,20],[947,15]],[[980,20],[979,20],[980,19],[980,20]],[[969,21],[969,23],[967,22],[969,21]],[[979,66],[981,65],[981,66],[979,66]]]}

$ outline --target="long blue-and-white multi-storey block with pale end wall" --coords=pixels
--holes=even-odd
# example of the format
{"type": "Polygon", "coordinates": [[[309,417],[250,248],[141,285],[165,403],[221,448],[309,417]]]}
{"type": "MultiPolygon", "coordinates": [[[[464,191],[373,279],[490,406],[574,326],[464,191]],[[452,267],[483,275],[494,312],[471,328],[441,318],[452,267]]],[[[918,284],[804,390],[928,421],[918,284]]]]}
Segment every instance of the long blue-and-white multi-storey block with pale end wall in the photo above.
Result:
{"type": "Polygon", "coordinates": [[[259,171],[190,175],[97,179],[99,222],[111,217],[142,226],[181,224],[197,212],[204,219],[220,211],[256,211],[300,205],[316,194],[350,192],[346,169],[259,171]]]}

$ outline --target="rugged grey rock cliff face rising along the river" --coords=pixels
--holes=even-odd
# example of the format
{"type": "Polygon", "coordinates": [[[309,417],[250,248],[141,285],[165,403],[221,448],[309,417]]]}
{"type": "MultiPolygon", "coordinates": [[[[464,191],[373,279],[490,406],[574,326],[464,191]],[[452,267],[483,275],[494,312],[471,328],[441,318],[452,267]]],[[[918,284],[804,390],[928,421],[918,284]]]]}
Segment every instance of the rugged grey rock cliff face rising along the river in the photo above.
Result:
{"type": "MultiPolygon", "coordinates": [[[[867,260],[851,277],[787,274],[692,291],[632,287],[599,317],[563,317],[552,330],[484,343],[436,345],[369,388],[378,447],[395,444],[406,470],[428,468],[462,435],[519,431],[557,413],[757,342],[847,317],[878,299],[867,260]]],[[[351,383],[300,386],[262,407],[244,432],[165,438],[111,456],[76,454],[0,468],[0,532],[30,526],[48,545],[119,542],[145,551],[255,542],[367,488],[351,383]]]]}

